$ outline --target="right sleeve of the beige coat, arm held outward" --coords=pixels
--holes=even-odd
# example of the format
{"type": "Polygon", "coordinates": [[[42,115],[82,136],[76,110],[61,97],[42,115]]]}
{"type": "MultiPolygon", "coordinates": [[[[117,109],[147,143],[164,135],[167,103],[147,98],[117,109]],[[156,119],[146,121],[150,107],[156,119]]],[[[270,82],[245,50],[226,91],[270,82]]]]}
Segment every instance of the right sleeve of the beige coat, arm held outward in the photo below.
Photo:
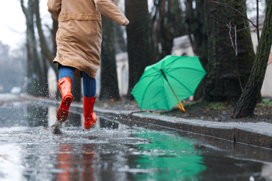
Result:
{"type": "Polygon", "coordinates": [[[120,25],[126,22],[126,16],[121,13],[121,10],[110,0],[94,0],[96,10],[105,17],[114,20],[120,25]]]}

